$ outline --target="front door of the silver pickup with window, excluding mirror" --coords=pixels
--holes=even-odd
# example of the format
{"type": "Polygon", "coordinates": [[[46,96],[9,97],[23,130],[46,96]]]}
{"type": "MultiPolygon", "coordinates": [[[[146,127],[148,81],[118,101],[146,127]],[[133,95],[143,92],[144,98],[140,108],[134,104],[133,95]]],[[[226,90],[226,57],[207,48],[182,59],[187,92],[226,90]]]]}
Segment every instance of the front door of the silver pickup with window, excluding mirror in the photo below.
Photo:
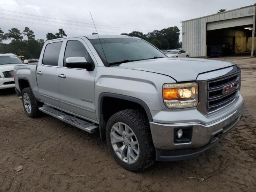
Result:
{"type": "Polygon", "coordinates": [[[70,38],[66,42],[63,67],[60,68],[58,87],[60,93],[60,106],[62,109],[78,114],[89,120],[96,120],[94,101],[94,80],[96,76],[96,60],[80,38],[70,38]],[[90,56],[91,55],[91,56],[90,56]],[[94,62],[94,71],[85,69],[66,68],[68,57],[84,57],[87,62],[94,62]]]}

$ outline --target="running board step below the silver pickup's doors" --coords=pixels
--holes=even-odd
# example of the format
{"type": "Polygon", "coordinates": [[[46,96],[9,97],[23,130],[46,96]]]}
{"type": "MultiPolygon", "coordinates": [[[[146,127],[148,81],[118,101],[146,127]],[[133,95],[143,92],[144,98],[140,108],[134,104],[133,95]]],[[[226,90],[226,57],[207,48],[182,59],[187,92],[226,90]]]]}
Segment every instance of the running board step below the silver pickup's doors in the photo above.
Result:
{"type": "Polygon", "coordinates": [[[70,125],[73,125],[77,128],[80,128],[80,129],[86,131],[86,132],[89,132],[89,133],[94,133],[94,132],[98,131],[98,128],[99,128],[98,126],[94,125],[93,123],[89,123],[87,121],[78,119],[74,116],[67,115],[63,112],[60,112],[60,111],[50,108],[48,106],[42,106],[39,108],[39,110],[48,115],[51,115],[59,120],[62,120],[70,125]]]}

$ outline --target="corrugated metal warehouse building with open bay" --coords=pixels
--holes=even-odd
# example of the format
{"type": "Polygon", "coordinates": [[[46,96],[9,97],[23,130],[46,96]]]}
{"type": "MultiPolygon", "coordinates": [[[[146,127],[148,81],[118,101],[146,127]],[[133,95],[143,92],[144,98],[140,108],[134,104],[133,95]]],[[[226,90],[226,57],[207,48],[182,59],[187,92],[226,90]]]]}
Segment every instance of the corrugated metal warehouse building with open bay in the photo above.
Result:
{"type": "Polygon", "coordinates": [[[256,4],[182,21],[182,46],[190,57],[253,56],[256,4]]]}

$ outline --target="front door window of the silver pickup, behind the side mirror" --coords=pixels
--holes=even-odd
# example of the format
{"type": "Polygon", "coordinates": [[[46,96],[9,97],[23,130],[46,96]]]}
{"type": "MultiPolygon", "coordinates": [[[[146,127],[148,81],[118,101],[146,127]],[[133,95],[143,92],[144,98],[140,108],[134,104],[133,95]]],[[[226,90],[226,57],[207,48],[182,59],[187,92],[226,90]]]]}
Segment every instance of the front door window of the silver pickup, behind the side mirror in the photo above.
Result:
{"type": "Polygon", "coordinates": [[[82,44],[82,42],[77,40],[67,42],[63,66],[66,66],[66,58],[68,57],[84,57],[86,58],[87,62],[93,62],[85,46],[82,44]]]}

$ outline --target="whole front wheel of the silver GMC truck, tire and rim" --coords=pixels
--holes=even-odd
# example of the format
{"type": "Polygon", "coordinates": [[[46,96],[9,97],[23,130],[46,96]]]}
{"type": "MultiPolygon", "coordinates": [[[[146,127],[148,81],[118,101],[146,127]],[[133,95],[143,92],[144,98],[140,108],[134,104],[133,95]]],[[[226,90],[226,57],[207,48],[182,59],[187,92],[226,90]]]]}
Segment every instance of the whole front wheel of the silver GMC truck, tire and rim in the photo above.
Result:
{"type": "Polygon", "coordinates": [[[149,122],[138,110],[126,109],[112,115],[106,138],[112,156],[125,169],[138,172],[154,163],[149,122]]]}

